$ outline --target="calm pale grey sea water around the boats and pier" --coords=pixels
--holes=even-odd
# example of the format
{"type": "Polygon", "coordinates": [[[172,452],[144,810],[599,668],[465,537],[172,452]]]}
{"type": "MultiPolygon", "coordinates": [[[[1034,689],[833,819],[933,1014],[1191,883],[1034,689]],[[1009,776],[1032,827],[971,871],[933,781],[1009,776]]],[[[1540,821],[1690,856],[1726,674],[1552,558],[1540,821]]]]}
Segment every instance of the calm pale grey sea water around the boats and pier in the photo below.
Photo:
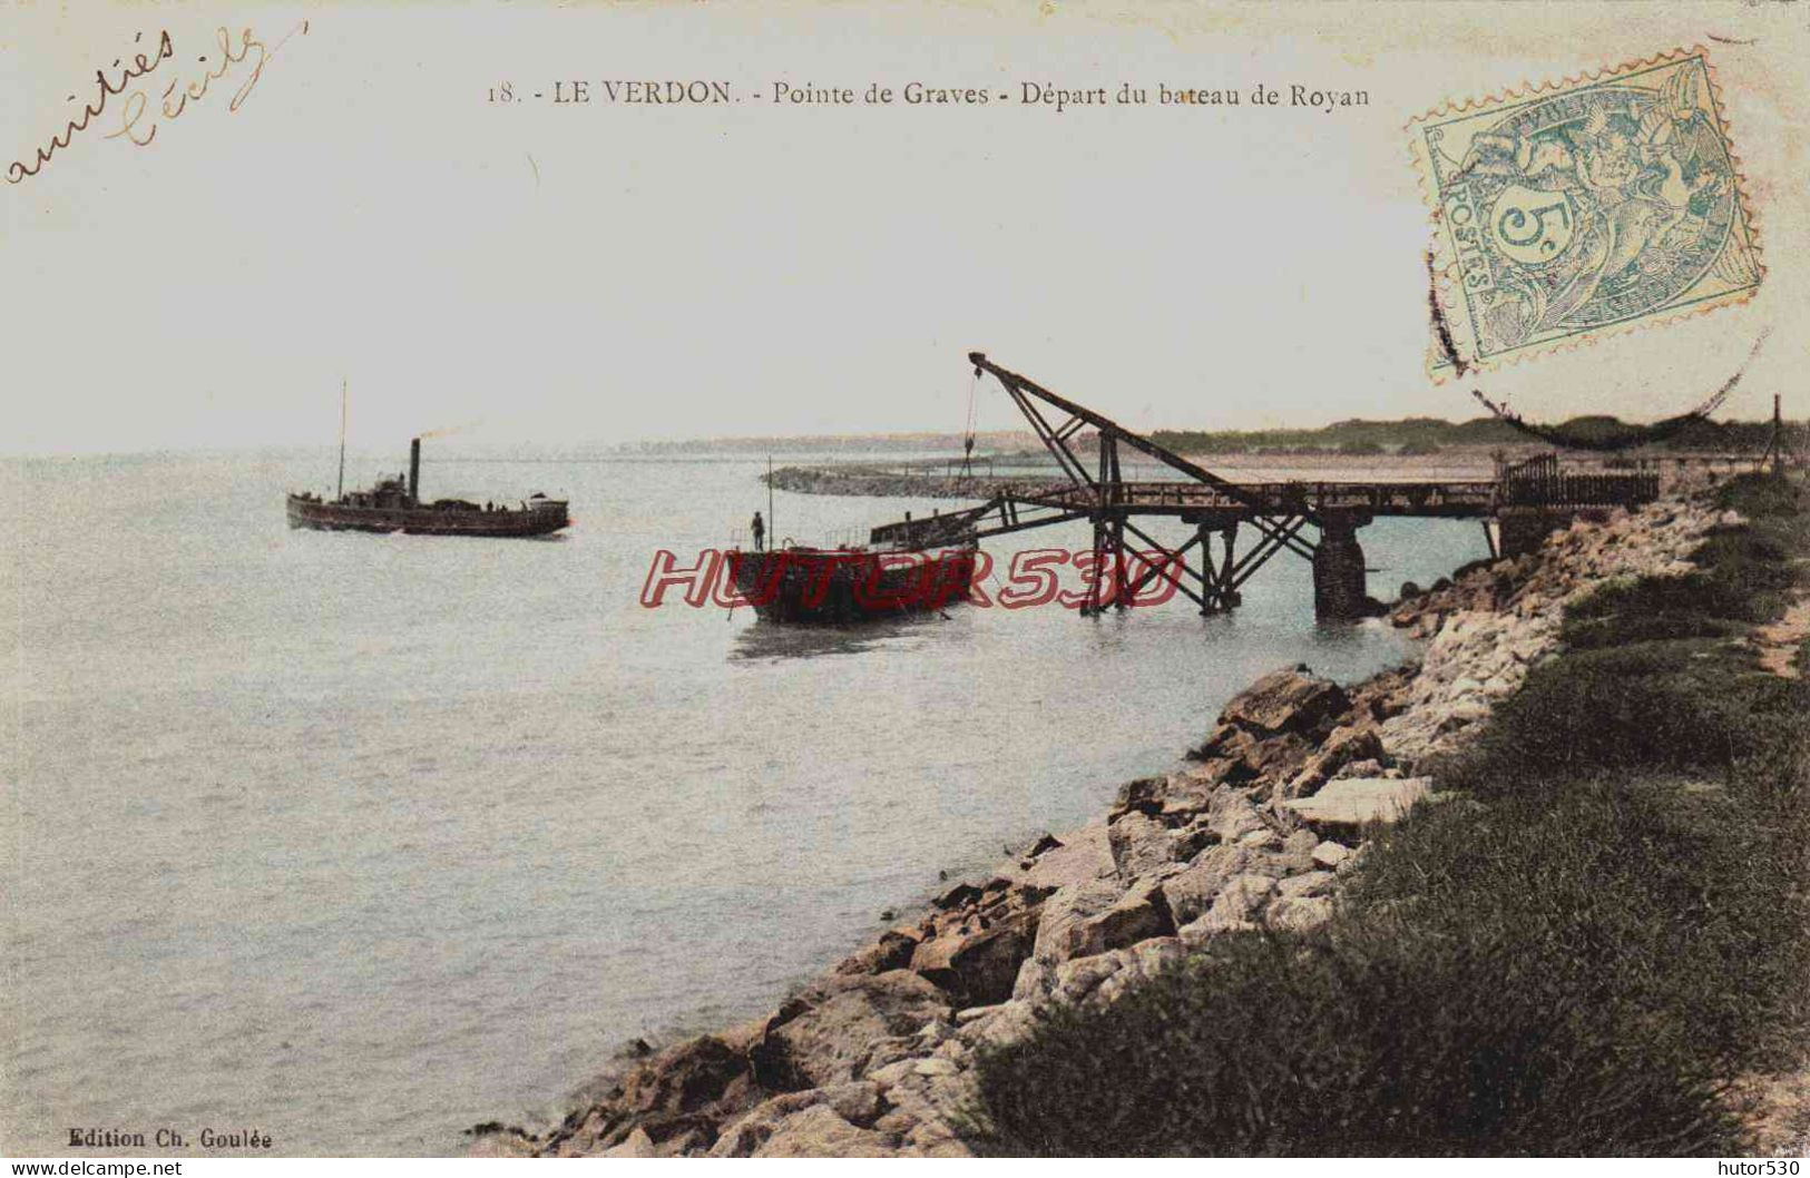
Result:
{"type": "MultiPolygon", "coordinates": [[[[1256,675],[1408,651],[1316,626],[1289,554],[1207,619],[1180,595],[831,632],[644,608],[655,552],[767,510],[764,465],[431,447],[431,496],[570,498],[561,537],[509,541],[293,532],[282,492],[329,487],[320,454],[5,460],[0,1147],[442,1154],[557,1118],[623,1040],[758,1015],[939,872],[1097,816],[1256,675]]],[[[936,507],[780,494],[769,536],[936,507]]],[[[1385,597],[1484,554],[1475,523],[1359,537],[1385,597]]],[[[1086,545],[986,548],[1003,575],[1086,545]]]]}

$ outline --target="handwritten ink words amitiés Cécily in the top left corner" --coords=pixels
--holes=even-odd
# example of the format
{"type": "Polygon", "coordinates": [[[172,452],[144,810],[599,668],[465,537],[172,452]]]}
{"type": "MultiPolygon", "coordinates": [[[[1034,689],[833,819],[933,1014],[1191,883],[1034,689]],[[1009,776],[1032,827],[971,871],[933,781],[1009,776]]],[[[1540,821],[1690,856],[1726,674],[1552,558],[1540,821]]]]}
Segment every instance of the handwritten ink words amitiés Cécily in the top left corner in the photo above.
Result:
{"type": "MultiPolygon", "coordinates": [[[[257,85],[259,78],[264,76],[264,65],[270,63],[270,60],[277,54],[277,51],[282,49],[282,45],[286,45],[291,36],[308,34],[308,22],[304,20],[302,24],[284,33],[282,38],[277,40],[273,45],[266,45],[264,42],[261,42],[252,33],[252,29],[241,29],[237,38],[226,27],[217,29],[215,34],[221,47],[221,62],[217,65],[208,65],[208,69],[199,78],[188,81],[188,85],[183,85],[181,80],[174,80],[167,87],[163,87],[163,96],[159,103],[163,121],[179,118],[183,110],[188,109],[188,103],[199,101],[201,98],[206,96],[208,87],[224,78],[241,63],[250,62],[252,63],[250,72],[244,76],[244,80],[239,83],[239,89],[233,90],[232,100],[226,103],[228,110],[237,110],[244,103],[244,100],[250,98],[252,89],[257,85]]],[[[143,38],[145,34],[139,33],[136,38],[132,38],[132,42],[139,43],[143,42],[143,38]]],[[[81,114],[78,118],[69,119],[62,130],[58,130],[42,147],[38,147],[33,152],[31,159],[14,159],[13,163],[9,163],[5,166],[5,181],[9,185],[18,185],[42,172],[43,165],[51,163],[51,159],[60,150],[67,148],[74,141],[74,138],[80,132],[87,130],[94,123],[94,119],[98,119],[101,114],[109,110],[110,105],[119,110],[119,128],[107,132],[105,138],[118,139],[125,136],[138,147],[148,147],[157,138],[157,112],[152,112],[150,109],[150,90],[134,89],[130,94],[127,94],[127,87],[132,81],[150,74],[163,62],[174,56],[176,56],[176,42],[170,38],[170,31],[163,29],[157,34],[156,54],[136,52],[132,54],[132,63],[125,67],[119,65],[119,58],[114,58],[110,69],[118,72],[112,76],[107,72],[109,67],[94,71],[96,94],[81,107],[81,114]],[[109,103],[110,98],[116,98],[119,94],[127,94],[123,103],[109,103]]],[[[199,62],[205,65],[206,56],[203,54],[199,62]]],[[[69,101],[76,101],[76,96],[71,94],[69,101]]]]}

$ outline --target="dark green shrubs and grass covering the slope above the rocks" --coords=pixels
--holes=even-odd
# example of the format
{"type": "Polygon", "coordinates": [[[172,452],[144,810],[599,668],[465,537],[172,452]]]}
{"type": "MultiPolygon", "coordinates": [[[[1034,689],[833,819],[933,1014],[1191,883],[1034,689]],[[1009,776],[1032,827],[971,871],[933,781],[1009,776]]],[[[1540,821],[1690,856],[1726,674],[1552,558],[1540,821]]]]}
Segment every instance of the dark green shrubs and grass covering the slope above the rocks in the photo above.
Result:
{"type": "Polygon", "coordinates": [[[1220,937],[983,1051],[1005,1154],[1730,1154],[1727,1086],[1810,1028],[1810,689],[1758,671],[1799,494],[1607,586],[1376,841],[1332,921],[1220,937]]]}

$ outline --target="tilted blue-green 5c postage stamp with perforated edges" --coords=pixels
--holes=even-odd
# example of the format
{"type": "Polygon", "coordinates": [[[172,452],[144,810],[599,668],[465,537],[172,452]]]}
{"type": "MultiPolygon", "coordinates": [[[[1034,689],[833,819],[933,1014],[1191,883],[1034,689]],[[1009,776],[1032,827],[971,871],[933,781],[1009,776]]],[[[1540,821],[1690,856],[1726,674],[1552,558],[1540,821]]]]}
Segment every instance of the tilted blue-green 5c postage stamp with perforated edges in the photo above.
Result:
{"type": "Polygon", "coordinates": [[[1434,376],[1743,302],[1765,275],[1703,49],[1448,105],[1408,134],[1434,376]]]}

